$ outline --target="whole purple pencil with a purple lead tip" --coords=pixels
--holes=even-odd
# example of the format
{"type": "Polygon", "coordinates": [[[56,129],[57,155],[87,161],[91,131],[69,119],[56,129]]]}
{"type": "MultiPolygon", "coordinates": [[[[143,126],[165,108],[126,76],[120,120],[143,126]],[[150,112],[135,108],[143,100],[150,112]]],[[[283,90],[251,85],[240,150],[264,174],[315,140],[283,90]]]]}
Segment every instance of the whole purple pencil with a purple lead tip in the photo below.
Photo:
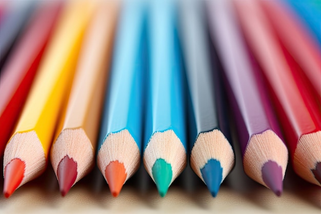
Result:
{"type": "Polygon", "coordinates": [[[234,104],[244,170],[254,181],[280,196],[288,150],[272,106],[255,82],[255,67],[236,24],[232,5],[228,1],[211,1],[207,8],[212,40],[222,60],[234,104]]]}

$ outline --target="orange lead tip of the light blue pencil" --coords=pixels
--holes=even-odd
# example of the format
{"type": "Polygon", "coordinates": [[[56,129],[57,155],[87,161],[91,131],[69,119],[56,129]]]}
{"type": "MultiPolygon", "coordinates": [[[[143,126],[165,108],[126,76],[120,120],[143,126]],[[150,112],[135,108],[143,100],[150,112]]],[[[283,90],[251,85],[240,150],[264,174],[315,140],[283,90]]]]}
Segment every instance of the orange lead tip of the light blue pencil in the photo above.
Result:
{"type": "Polygon", "coordinates": [[[127,178],[124,164],[118,161],[110,162],[105,169],[105,178],[112,196],[117,197],[127,178]]]}

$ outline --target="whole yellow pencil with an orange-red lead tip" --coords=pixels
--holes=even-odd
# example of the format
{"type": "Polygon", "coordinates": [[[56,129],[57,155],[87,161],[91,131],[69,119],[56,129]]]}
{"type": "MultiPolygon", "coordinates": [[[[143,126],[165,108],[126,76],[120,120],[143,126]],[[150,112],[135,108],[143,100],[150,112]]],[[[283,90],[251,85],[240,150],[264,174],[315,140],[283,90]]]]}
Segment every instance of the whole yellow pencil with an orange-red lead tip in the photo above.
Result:
{"type": "Polygon", "coordinates": [[[58,20],[22,115],[5,149],[3,191],[7,198],[46,168],[58,115],[70,92],[92,10],[89,2],[70,2],[58,20]]]}

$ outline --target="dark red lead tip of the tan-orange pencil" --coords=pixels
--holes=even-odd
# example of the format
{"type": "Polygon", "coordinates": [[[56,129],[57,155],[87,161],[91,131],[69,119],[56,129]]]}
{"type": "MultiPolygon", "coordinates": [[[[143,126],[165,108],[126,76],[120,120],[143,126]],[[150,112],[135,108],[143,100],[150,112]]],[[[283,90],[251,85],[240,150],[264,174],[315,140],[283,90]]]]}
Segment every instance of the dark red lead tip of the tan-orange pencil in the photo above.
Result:
{"type": "Polygon", "coordinates": [[[67,192],[74,185],[77,178],[77,163],[67,155],[61,160],[57,168],[57,179],[59,190],[62,196],[66,196],[67,192]]]}

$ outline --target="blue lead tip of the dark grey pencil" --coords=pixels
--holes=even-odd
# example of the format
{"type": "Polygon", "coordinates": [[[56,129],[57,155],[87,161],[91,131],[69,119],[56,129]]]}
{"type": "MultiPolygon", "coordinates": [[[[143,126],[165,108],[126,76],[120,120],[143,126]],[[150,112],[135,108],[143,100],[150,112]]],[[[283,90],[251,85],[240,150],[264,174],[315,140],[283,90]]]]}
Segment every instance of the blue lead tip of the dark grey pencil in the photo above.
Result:
{"type": "Polygon", "coordinates": [[[216,197],[220,183],[223,177],[223,168],[220,162],[214,159],[209,160],[205,166],[200,169],[207,188],[210,190],[213,197],[216,197]]]}

